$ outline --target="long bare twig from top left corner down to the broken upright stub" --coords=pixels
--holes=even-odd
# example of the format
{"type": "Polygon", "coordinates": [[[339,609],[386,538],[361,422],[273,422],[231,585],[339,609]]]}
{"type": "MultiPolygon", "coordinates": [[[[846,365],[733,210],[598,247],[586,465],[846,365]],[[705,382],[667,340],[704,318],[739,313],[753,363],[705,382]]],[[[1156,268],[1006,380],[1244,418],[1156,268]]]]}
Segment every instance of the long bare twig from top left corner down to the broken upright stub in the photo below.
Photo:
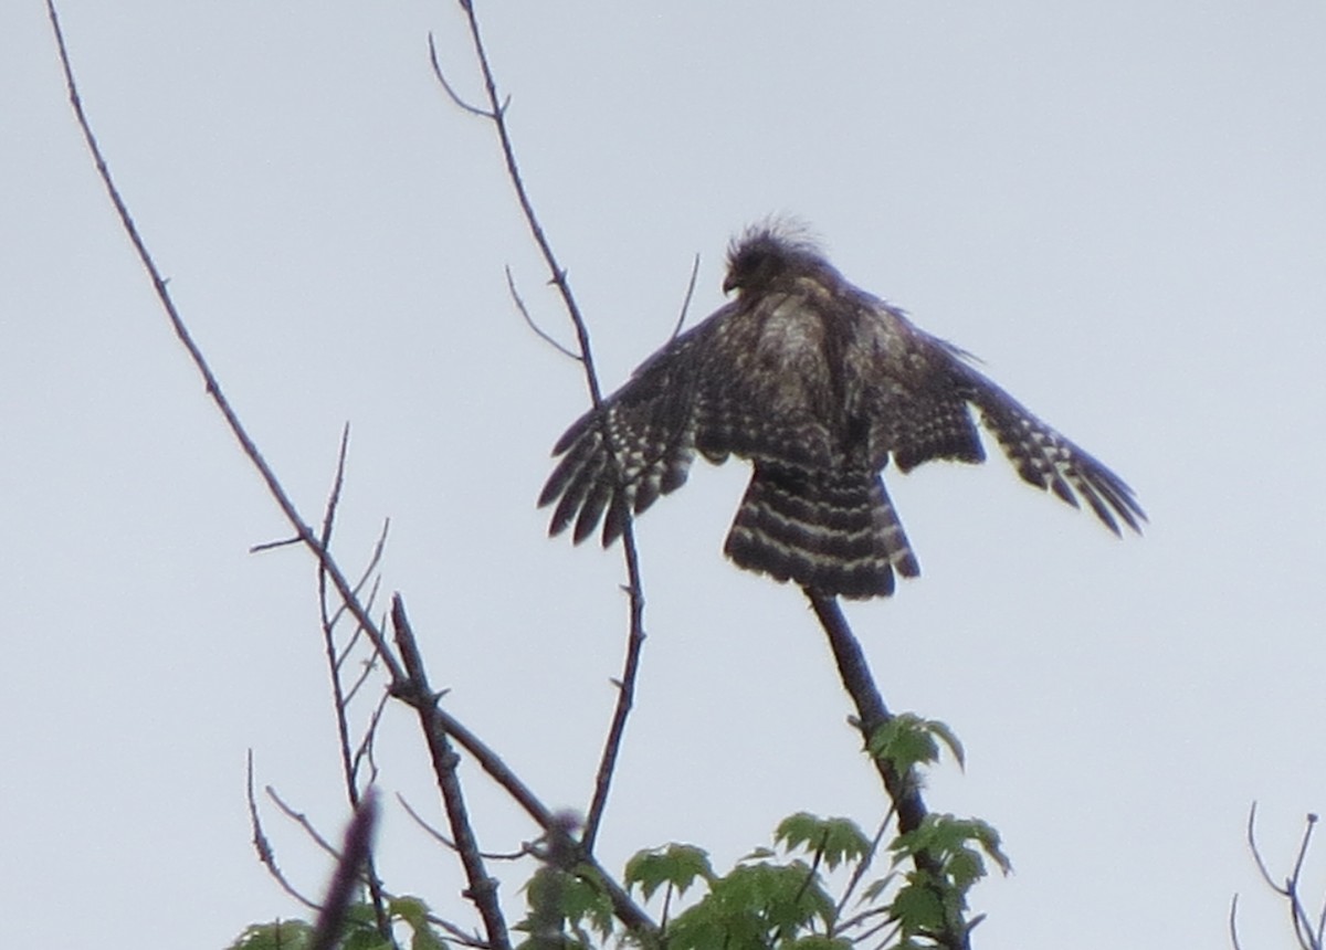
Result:
{"type": "Polygon", "coordinates": [[[184,325],[183,318],[175,309],[175,301],[167,289],[167,281],[162,277],[160,270],[156,268],[156,262],[151,253],[147,250],[147,245],[138,233],[138,225],[134,223],[133,216],[129,213],[129,207],[119,195],[119,189],[115,187],[114,180],[110,176],[110,168],[106,166],[106,159],[101,152],[101,146],[97,144],[97,136],[91,131],[91,125],[84,113],[82,99],[78,95],[78,85],[74,82],[73,66],[69,62],[69,50],[65,46],[65,34],[60,28],[60,17],[56,13],[54,0],[46,0],[46,15],[50,20],[50,28],[56,37],[56,46],[60,52],[60,65],[65,74],[65,87],[69,93],[69,105],[73,106],[74,117],[78,121],[78,129],[82,131],[84,142],[88,146],[88,151],[91,154],[93,160],[97,164],[97,174],[101,176],[101,182],[106,188],[106,195],[110,197],[111,204],[115,207],[115,213],[119,216],[119,223],[129,236],[130,242],[134,245],[134,250],[138,253],[138,260],[142,262],[143,269],[151,277],[152,288],[156,291],[156,299],[160,301],[162,307],[166,310],[166,315],[170,319],[171,329],[175,331],[175,337],[188,351],[190,359],[198,368],[199,375],[203,378],[203,383],[207,388],[207,395],[211,396],[212,403],[220,411],[221,416],[225,419],[227,427],[231,429],[231,435],[240,444],[244,454],[248,456],[249,461],[257,469],[259,476],[267,485],[268,493],[280,506],[281,513],[285,519],[294,529],[296,535],[304,543],[305,547],[317,558],[318,563],[326,570],[328,575],[332,578],[333,586],[337,588],[339,596],[345,600],[346,606],[355,619],[363,624],[365,632],[369,639],[373,640],[373,647],[377,649],[378,655],[382,657],[382,662],[386,665],[387,670],[391,673],[392,680],[399,680],[402,676],[400,664],[391,655],[387,648],[386,637],[382,631],[373,623],[367,612],[354,598],[350,590],[350,583],[346,580],[345,575],[341,572],[339,566],[333,560],[332,555],[328,553],[318,539],[313,534],[313,529],[304,521],[294,502],[286,494],[281,482],[277,480],[276,473],[272,466],[267,464],[267,460],[259,452],[257,445],[249,437],[248,431],[240,423],[239,416],[231,407],[229,400],[221,392],[220,383],[217,383],[216,376],[212,374],[212,368],[207,359],[203,356],[203,351],[199,350],[198,343],[194,341],[192,334],[184,325]]]}

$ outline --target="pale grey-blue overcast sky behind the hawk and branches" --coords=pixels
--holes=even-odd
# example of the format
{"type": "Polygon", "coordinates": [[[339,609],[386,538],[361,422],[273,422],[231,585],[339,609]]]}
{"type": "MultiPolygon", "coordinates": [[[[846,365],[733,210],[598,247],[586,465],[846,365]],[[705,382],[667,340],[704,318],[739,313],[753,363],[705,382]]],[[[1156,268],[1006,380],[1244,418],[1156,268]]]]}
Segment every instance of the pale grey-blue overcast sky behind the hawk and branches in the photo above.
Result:
{"type": "MultiPolygon", "coordinates": [[[[617,550],[544,537],[586,404],[451,3],[65,0],[85,105],[171,290],[306,517],[353,424],[337,550],[407,598],[448,708],[583,807],[619,672],[617,550]]],[[[614,388],[721,302],[729,236],[808,220],[845,274],[979,354],[1127,478],[1144,538],[1002,458],[888,485],[924,575],[849,609],[888,702],[948,722],[935,811],[1004,835],[976,945],[1289,946],[1244,821],[1288,868],[1326,808],[1326,7],[934,0],[481,3],[529,188],[614,388]],[[660,12],[662,8],[662,12],[660,12]]],[[[0,912],[9,946],[220,947],[293,916],[244,755],[346,818],[310,559],[172,339],[95,180],[44,8],[0,9],[0,912]]],[[[720,549],[747,470],[697,464],[639,525],[638,709],[602,856],[728,867],[797,810],[883,807],[800,594],[720,549]]],[[[382,783],[438,814],[412,722],[382,783]]],[[[534,831],[467,775],[485,848],[534,831]]],[[[269,816],[306,890],[328,871],[269,816]]],[[[1326,843],[1310,861],[1326,881],[1326,843]]],[[[391,888],[463,921],[392,806],[391,888]]],[[[520,905],[511,885],[508,905],[520,905]]],[[[513,914],[514,916],[514,914],[513,914]]]]}

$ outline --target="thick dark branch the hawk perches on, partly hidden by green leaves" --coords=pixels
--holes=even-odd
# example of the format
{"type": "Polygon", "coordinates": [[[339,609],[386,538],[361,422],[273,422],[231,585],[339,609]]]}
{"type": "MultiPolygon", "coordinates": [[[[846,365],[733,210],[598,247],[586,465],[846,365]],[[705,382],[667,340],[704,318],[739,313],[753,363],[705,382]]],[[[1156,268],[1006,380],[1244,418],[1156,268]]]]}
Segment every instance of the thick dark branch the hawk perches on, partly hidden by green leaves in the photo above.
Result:
{"type": "MultiPolygon", "coordinates": [[[[843,616],[837,598],[826,596],[810,587],[804,590],[819,619],[819,625],[829,637],[838,674],[842,678],[843,689],[847,690],[857,706],[857,725],[869,747],[871,737],[892,718],[892,714],[884,705],[884,697],[880,696],[870,673],[866,655],[847,625],[847,619],[843,616]]],[[[918,829],[928,812],[915,776],[911,772],[898,774],[888,762],[879,757],[871,757],[871,759],[898,814],[899,833],[918,829]]],[[[931,877],[937,878],[943,873],[940,863],[926,851],[916,852],[912,860],[918,871],[931,877]]],[[[971,946],[968,931],[969,927],[961,926],[961,921],[948,921],[945,916],[944,927],[935,934],[935,939],[947,950],[968,950],[971,946]]]]}

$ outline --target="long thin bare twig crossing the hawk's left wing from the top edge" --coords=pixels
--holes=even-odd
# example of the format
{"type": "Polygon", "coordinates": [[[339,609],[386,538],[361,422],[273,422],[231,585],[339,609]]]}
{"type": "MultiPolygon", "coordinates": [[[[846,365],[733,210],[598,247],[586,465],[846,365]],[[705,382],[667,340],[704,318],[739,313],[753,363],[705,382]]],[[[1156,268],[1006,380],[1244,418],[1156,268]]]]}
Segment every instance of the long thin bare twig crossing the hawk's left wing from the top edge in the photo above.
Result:
{"type": "MultiPolygon", "coordinates": [[[[497,140],[501,146],[503,160],[507,164],[507,178],[511,180],[512,188],[516,192],[516,200],[520,203],[525,224],[529,227],[529,233],[534,238],[534,244],[538,245],[544,262],[548,265],[552,274],[550,282],[561,294],[566,313],[570,317],[572,325],[575,327],[575,339],[579,347],[578,359],[585,368],[585,383],[589,387],[590,401],[594,409],[598,411],[603,405],[603,394],[599,388],[598,371],[594,367],[594,354],[589,339],[589,325],[585,322],[579,305],[575,302],[575,295],[572,293],[570,282],[566,280],[566,269],[557,260],[556,253],[553,253],[552,244],[549,244],[548,236],[544,233],[542,224],[540,223],[538,216],[534,212],[534,205],[529,199],[528,191],[525,189],[525,180],[521,176],[520,166],[516,162],[516,150],[512,144],[511,131],[507,127],[507,106],[509,105],[509,99],[501,101],[499,98],[497,81],[493,77],[492,66],[488,61],[488,52],[479,30],[479,17],[475,15],[473,0],[460,0],[460,7],[469,21],[469,36],[475,48],[475,58],[477,60],[479,69],[483,73],[488,109],[476,109],[461,101],[443,78],[442,70],[436,68],[436,56],[434,54],[438,78],[442,82],[443,89],[447,90],[447,94],[453,102],[456,102],[456,105],[465,109],[471,114],[481,115],[493,123],[493,129],[497,132],[497,140]]],[[[428,46],[430,52],[434,52],[431,37],[428,46]]],[[[606,420],[601,419],[599,424],[603,431],[603,444],[607,447],[613,458],[613,466],[617,472],[621,472],[617,448],[613,443],[611,432],[609,431],[606,420]]],[[[622,676],[617,680],[617,706],[613,710],[613,721],[609,726],[607,737],[603,741],[603,751],[599,758],[598,771],[594,776],[594,795],[590,800],[589,814],[585,819],[585,831],[581,835],[581,847],[585,855],[591,855],[594,852],[594,843],[598,837],[598,829],[603,820],[603,811],[607,807],[607,795],[611,788],[613,774],[617,767],[617,757],[621,750],[622,738],[626,733],[626,722],[631,713],[631,705],[634,704],[635,678],[639,672],[640,651],[644,647],[644,587],[640,582],[639,555],[635,549],[635,530],[629,513],[626,517],[625,530],[622,531],[622,554],[626,560],[626,590],[630,598],[630,629],[626,640],[626,657],[622,664],[622,676]]]]}

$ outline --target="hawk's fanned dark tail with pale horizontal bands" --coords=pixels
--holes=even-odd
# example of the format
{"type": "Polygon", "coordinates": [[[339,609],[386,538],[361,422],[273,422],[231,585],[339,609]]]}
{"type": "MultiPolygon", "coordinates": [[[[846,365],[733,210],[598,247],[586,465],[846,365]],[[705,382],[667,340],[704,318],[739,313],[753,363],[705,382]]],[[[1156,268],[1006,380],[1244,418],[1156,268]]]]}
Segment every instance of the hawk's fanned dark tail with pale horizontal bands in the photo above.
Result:
{"type": "Polygon", "coordinates": [[[739,567],[823,594],[894,592],[894,571],[920,574],[884,484],[871,470],[757,465],[723,547],[739,567]]]}

